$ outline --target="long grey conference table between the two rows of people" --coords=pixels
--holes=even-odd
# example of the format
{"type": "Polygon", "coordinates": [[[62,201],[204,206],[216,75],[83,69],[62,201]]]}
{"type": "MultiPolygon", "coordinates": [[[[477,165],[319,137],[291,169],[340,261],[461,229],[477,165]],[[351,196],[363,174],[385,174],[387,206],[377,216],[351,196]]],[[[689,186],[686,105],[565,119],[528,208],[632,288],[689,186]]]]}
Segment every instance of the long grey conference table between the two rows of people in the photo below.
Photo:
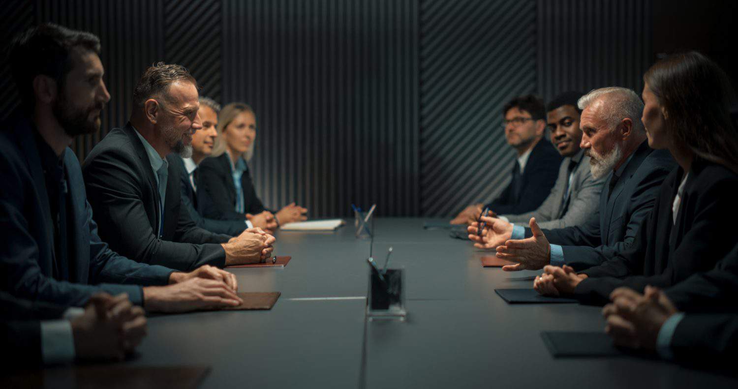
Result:
{"type": "Polygon", "coordinates": [[[603,331],[600,308],[511,305],[498,288],[539,272],[483,268],[489,252],[431,218],[377,218],[373,255],[404,269],[407,320],[365,320],[370,239],[279,232],[282,268],[230,269],[268,311],[155,315],[130,366],[209,365],[201,388],[737,388],[738,380],[642,357],[554,358],[541,331],[603,331]]]}

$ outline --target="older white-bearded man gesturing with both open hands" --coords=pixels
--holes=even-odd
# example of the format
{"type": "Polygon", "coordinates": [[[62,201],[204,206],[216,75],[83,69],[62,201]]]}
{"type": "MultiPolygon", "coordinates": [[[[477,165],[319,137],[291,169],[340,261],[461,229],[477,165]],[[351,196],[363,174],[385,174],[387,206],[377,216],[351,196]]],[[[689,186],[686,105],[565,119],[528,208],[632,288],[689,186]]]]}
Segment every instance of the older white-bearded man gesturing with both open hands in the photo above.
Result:
{"type": "MultiPolygon", "coordinates": [[[[531,218],[524,236],[511,224],[483,218],[487,227],[475,247],[496,249],[497,258],[514,264],[503,270],[542,269],[551,264],[567,272],[596,266],[629,247],[641,221],[651,212],[661,182],[675,166],[668,152],[648,147],[641,112],[644,103],[630,89],[595,89],[578,102],[582,109],[581,147],[590,156],[592,176],[608,176],[600,196],[599,217],[586,223],[541,230],[531,218]]],[[[469,227],[477,233],[477,224],[469,227]]],[[[470,237],[471,238],[471,237],[470,237]]]]}

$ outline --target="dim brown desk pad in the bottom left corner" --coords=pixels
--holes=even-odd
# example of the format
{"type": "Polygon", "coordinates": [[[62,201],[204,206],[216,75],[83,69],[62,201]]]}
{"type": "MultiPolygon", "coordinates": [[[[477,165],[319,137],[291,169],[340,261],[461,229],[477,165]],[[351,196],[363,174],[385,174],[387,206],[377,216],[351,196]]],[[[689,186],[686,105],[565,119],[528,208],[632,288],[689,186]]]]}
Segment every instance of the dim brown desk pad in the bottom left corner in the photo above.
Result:
{"type": "Polygon", "coordinates": [[[208,366],[77,365],[21,370],[0,378],[2,388],[197,388],[208,366]]]}

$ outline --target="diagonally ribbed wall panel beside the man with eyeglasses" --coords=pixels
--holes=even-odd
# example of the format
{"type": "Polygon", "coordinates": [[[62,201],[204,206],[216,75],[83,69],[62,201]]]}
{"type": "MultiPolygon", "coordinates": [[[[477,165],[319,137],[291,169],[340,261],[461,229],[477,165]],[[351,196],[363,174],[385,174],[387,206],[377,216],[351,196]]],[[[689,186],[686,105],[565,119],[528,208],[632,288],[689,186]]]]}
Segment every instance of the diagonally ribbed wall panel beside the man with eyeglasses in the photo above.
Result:
{"type": "Polygon", "coordinates": [[[501,109],[536,91],[536,3],[421,0],[421,204],[449,216],[507,185],[501,109]]]}

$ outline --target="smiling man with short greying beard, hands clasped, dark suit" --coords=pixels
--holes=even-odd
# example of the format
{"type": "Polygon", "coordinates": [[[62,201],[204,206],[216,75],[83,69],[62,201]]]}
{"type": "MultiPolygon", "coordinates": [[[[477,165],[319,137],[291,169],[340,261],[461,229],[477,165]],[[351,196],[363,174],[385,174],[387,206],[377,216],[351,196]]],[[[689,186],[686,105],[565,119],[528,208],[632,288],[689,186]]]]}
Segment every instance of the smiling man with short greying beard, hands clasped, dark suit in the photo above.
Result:
{"type": "Polygon", "coordinates": [[[202,128],[195,78],[176,64],[156,63],[134,89],[131,120],[114,128],[83,163],[100,237],[145,264],[190,270],[264,261],[275,238],[254,228],[238,237],[197,227],[182,205],[181,173],[165,157],[190,156],[202,128]]]}

